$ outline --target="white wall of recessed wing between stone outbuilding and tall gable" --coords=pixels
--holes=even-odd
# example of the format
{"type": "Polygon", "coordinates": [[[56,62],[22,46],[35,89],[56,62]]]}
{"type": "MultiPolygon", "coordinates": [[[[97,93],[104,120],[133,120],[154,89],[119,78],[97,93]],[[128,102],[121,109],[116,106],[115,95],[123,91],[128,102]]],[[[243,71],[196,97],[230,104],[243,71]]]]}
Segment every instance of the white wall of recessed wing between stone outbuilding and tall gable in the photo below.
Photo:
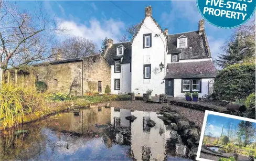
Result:
{"type": "Polygon", "coordinates": [[[121,72],[114,73],[114,66],[111,66],[111,93],[129,93],[131,92],[131,72],[130,63],[121,64],[121,72]],[[120,90],[115,90],[115,79],[120,79],[120,90]]]}

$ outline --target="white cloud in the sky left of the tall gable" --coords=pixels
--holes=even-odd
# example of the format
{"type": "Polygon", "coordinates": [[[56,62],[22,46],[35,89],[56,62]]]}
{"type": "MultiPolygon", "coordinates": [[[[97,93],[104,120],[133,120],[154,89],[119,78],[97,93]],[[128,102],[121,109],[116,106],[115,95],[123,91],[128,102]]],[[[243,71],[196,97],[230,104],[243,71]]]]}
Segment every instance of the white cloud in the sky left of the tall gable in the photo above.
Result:
{"type": "Polygon", "coordinates": [[[61,36],[60,39],[71,36],[84,37],[92,40],[101,47],[101,42],[105,37],[112,38],[117,42],[118,38],[122,36],[122,30],[125,24],[120,20],[104,19],[101,22],[96,18],[91,18],[87,24],[79,24],[73,20],[59,19],[60,27],[68,29],[67,35],[61,36]]]}

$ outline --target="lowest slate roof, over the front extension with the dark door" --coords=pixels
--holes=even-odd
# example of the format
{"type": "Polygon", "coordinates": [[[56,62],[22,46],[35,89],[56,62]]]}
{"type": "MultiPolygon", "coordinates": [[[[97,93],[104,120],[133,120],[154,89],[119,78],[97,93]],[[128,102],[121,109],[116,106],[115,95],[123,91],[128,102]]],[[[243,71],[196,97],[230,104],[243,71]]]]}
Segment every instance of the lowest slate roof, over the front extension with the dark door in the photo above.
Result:
{"type": "Polygon", "coordinates": [[[165,78],[214,78],[216,74],[212,61],[175,62],[167,64],[165,78]]]}

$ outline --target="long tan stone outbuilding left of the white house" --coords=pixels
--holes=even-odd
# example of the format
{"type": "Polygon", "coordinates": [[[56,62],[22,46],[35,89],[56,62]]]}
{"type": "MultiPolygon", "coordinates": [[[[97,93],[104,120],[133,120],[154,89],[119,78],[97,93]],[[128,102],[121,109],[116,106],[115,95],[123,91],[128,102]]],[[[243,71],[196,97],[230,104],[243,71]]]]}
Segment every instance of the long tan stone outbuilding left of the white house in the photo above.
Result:
{"type": "Polygon", "coordinates": [[[104,94],[111,85],[111,68],[101,55],[40,63],[35,69],[36,81],[45,82],[47,92],[104,94]]]}

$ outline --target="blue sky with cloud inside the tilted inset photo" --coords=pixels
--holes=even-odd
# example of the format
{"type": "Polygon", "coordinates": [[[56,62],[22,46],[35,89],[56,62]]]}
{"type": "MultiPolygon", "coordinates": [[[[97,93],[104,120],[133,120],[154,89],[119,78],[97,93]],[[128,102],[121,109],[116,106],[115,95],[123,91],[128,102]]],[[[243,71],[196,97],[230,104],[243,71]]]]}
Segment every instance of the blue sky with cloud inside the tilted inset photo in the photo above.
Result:
{"type": "MultiPolygon", "coordinates": [[[[229,117],[218,116],[213,114],[208,114],[207,121],[209,121],[209,127],[205,131],[205,135],[208,135],[208,133],[210,132],[212,133],[212,136],[215,137],[221,136],[222,126],[224,126],[222,135],[227,135],[227,124],[231,124],[232,129],[234,130],[234,127],[237,126],[239,122],[241,122],[241,120],[238,119],[232,119],[229,117]]],[[[256,123],[253,124],[256,127],[256,123]]]]}

